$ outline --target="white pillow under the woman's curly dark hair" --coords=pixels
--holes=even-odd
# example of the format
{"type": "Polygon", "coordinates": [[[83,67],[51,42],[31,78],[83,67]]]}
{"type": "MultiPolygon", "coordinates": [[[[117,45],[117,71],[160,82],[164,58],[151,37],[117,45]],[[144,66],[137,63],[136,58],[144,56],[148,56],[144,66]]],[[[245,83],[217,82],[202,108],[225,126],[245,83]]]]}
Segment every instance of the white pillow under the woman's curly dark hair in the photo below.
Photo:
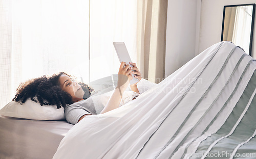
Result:
{"type": "Polygon", "coordinates": [[[27,99],[22,105],[20,102],[11,101],[0,110],[0,115],[32,120],[65,120],[64,109],[57,109],[56,105],[40,105],[27,99]]]}

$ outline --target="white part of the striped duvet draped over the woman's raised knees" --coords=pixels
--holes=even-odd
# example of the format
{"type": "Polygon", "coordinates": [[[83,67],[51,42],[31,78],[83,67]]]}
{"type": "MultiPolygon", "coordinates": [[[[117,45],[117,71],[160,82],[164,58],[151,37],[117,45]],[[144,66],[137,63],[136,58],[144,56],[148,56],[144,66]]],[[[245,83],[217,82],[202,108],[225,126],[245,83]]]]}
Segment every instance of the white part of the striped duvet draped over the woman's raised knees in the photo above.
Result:
{"type": "Polygon", "coordinates": [[[189,158],[223,125],[255,67],[236,45],[217,43],[137,99],[81,120],[53,158],[189,158]]]}

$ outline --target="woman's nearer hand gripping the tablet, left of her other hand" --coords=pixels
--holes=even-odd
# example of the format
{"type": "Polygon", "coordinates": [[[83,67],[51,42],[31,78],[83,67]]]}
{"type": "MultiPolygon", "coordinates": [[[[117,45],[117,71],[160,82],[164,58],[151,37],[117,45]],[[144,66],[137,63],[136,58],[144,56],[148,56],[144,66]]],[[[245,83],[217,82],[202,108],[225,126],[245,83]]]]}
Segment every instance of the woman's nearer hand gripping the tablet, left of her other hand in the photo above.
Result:
{"type": "Polygon", "coordinates": [[[124,91],[129,86],[132,78],[132,69],[129,68],[129,64],[126,65],[125,62],[121,62],[118,71],[117,88],[121,88],[124,91]]]}

